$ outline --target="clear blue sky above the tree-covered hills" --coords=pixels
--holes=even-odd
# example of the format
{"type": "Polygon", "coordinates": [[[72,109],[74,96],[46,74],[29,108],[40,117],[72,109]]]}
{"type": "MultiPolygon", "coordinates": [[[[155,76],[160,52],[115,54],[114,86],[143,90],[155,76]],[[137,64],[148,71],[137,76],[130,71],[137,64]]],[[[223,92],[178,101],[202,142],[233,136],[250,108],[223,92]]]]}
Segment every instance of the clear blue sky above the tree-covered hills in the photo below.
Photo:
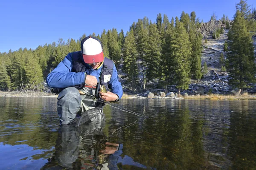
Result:
{"type": "MultiPolygon", "coordinates": [[[[215,12],[233,18],[239,0],[1,0],[0,52],[79,39],[82,34],[101,34],[103,29],[123,29],[144,16],[153,22],[157,14],[180,17],[182,11],[195,11],[208,21],[215,12]]],[[[251,7],[255,0],[247,0],[251,7]]]]}

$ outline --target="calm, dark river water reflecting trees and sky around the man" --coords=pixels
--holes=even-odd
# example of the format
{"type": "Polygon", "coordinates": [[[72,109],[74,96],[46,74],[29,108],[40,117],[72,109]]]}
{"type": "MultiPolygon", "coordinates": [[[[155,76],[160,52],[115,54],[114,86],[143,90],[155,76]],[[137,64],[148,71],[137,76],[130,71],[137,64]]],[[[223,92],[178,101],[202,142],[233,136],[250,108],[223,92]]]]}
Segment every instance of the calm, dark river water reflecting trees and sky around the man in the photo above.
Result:
{"type": "Polygon", "coordinates": [[[0,170],[255,169],[256,101],[122,99],[60,126],[51,97],[0,97],[0,170]]]}

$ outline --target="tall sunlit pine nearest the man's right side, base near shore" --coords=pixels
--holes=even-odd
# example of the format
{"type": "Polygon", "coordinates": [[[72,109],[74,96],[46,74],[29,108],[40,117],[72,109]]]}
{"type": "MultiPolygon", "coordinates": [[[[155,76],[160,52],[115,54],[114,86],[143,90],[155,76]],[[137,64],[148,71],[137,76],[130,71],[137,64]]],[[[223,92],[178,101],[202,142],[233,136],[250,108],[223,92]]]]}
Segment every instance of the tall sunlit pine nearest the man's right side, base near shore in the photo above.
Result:
{"type": "Polygon", "coordinates": [[[123,59],[124,65],[122,71],[127,74],[128,82],[131,83],[132,89],[136,89],[138,92],[138,69],[137,69],[137,50],[136,50],[136,41],[134,38],[133,29],[130,32],[127,32],[125,37],[125,43],[123,47],[123,59]]]}

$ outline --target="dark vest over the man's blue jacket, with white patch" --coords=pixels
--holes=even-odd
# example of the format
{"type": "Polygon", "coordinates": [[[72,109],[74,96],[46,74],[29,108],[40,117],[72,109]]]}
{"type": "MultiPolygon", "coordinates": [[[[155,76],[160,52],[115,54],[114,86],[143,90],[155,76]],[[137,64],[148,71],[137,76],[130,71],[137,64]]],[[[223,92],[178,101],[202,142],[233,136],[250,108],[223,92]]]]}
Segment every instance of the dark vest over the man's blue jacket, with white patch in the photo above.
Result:
{"type": "MultiPolygon", "coordinates": [[[[82,60],[82,54],[81,51],[76,51],[71,53],[71,57],[73,60],[73,67],[72,67],[72,72],[86,72],[86,66],[84,65],[84,61],[82,60]]],[[[112,76],[113,74],[113,66],[114,63],[111,59],[108,59],[105,57],[104,59],[104,63],[103,63],[103,70],[102,70],[102,74],[100,77],[100,84],[101,85],[105,85],[105,88],[107,91],[109,91],[109,85],[108,82],[104,82],[104,75],[110,74],[112,76]]],[[[84,83],[79,85],[79,88],[81,88],[84,86],[84,83]]]]}

